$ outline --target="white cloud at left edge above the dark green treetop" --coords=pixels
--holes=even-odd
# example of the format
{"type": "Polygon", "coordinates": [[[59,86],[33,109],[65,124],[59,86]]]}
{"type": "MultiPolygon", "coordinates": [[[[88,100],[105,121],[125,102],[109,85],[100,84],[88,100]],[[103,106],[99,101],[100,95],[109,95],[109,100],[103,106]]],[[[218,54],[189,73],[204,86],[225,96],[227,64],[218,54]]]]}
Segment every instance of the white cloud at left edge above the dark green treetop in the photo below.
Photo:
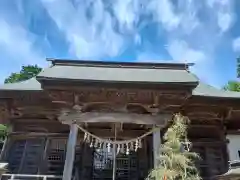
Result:
{"type": "Polygon", "coordinates": [[[22,65],[45,66],[45,57],[34,47],[34,36],[20,24],[12,23],[0,15],[0,83],[22,65]]]}

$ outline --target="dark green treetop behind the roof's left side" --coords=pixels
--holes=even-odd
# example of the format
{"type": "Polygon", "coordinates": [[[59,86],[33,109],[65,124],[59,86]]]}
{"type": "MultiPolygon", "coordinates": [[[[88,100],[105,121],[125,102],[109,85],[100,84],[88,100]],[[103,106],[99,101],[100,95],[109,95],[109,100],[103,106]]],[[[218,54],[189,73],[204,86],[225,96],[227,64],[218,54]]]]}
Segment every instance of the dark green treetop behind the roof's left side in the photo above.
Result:
{"type": "Polygon", "coordinates": [[[12,73],[8,78],[5,79],[4,83],[15,83],[25,81],[35,77],[42,71],[42,68],[37,65],[22,66],[19,73],[12,73]]]}

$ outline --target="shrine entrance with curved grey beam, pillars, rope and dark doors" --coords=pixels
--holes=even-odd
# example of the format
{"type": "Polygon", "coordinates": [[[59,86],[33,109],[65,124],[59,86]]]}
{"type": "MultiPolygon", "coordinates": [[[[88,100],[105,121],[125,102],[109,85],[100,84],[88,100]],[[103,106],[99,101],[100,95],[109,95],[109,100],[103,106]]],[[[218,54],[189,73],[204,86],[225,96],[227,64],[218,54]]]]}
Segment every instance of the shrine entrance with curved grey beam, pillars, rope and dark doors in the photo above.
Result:
{"type": "Polygon", "coordinates": [[[97,114],[94,112],[80,113],[79,111],[63,112],[59,120],[70,125],[63,180],[70,179],[74,171],[76,176],[81,176],[80,179],[145,179],[152,164],[155,164],[153,159],[156,159],[154,156],[156,156],[156,150],[161,143],[160,127],[166,125],[167,118],[169,117],[169,115],[139,115],[126,112],[98,112],[97,114]],[[108,137],[105,138],[97,136],[82,127],[82,124],[86,125],[86,123],[88,124],[87,126],[107,123],[112,127],[110,130],[112,136],[108,135],[108,137]],[[125,129],[125,132],[124,123],[128,127],[128,130],[125,129]],[[156,125],[158,128],[152,128],[156,125]],[[132,129],[130,130],[129,127],[131,126],[132,129]],[[87,151],[88,153],[91,152],[91,155],[82,156],[92,158],[90,161],[83,161],[84,163],[81,165],[80,173],[77,169],[74,170],[74,168],[76,168],[76,166],[74,166],[75,145],[79,129],[84,133],[84,148],[88,148],[87,146],[92,148],[87,151]],[[123,134],[127,131],[131,132],[131,136],[135,137],[128,135],[128,139],[126,140],[126,136],[123,134]],[[145,133],[137,135],[136,132],[133,133],[134,131],[139,131],[138,133],[145,131],[145,133]],[[122,135],[120,133],[122,133],[122,135]],[[152,139],[152,144],[149,143],[149,137],[152,139]],[[143,143],[143,139],[145,138],[147,140],[143,143]],[[91,162],[91,165],[88,165],[88,162],[91,162]],[[89,170],[84,170],[86,166],[91,166],[91,173],[86,173],[90,172],[89,170]]]}

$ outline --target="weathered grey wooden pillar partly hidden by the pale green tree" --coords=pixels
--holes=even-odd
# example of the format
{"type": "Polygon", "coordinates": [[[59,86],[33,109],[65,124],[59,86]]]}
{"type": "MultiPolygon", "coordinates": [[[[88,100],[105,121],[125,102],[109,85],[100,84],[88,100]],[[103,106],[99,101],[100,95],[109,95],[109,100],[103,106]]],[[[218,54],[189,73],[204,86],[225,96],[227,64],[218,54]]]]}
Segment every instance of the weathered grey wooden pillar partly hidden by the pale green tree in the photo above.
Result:
{"type": "Polygon", "coordinates": [[[154,168],[158,166],[158,153],[161,145],[161,133],[160,130],[153,133],[153,165],[154,168]]]}

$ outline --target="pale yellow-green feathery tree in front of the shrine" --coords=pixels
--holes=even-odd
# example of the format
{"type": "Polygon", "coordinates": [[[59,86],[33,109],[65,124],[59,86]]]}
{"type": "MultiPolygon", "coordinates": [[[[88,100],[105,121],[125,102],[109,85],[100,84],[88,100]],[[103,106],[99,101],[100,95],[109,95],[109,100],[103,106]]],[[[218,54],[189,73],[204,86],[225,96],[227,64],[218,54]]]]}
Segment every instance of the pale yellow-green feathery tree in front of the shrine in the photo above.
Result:
{"type": "Polygon", "coordinates": [[[190,152],[190,141],[187,139],[188,118],[177,114],[173,124],[164,135],[160,147],[158,166],[153,169],[148,179],[156,180],[200,180],[194,160],[199,156],[190,152]]]}

